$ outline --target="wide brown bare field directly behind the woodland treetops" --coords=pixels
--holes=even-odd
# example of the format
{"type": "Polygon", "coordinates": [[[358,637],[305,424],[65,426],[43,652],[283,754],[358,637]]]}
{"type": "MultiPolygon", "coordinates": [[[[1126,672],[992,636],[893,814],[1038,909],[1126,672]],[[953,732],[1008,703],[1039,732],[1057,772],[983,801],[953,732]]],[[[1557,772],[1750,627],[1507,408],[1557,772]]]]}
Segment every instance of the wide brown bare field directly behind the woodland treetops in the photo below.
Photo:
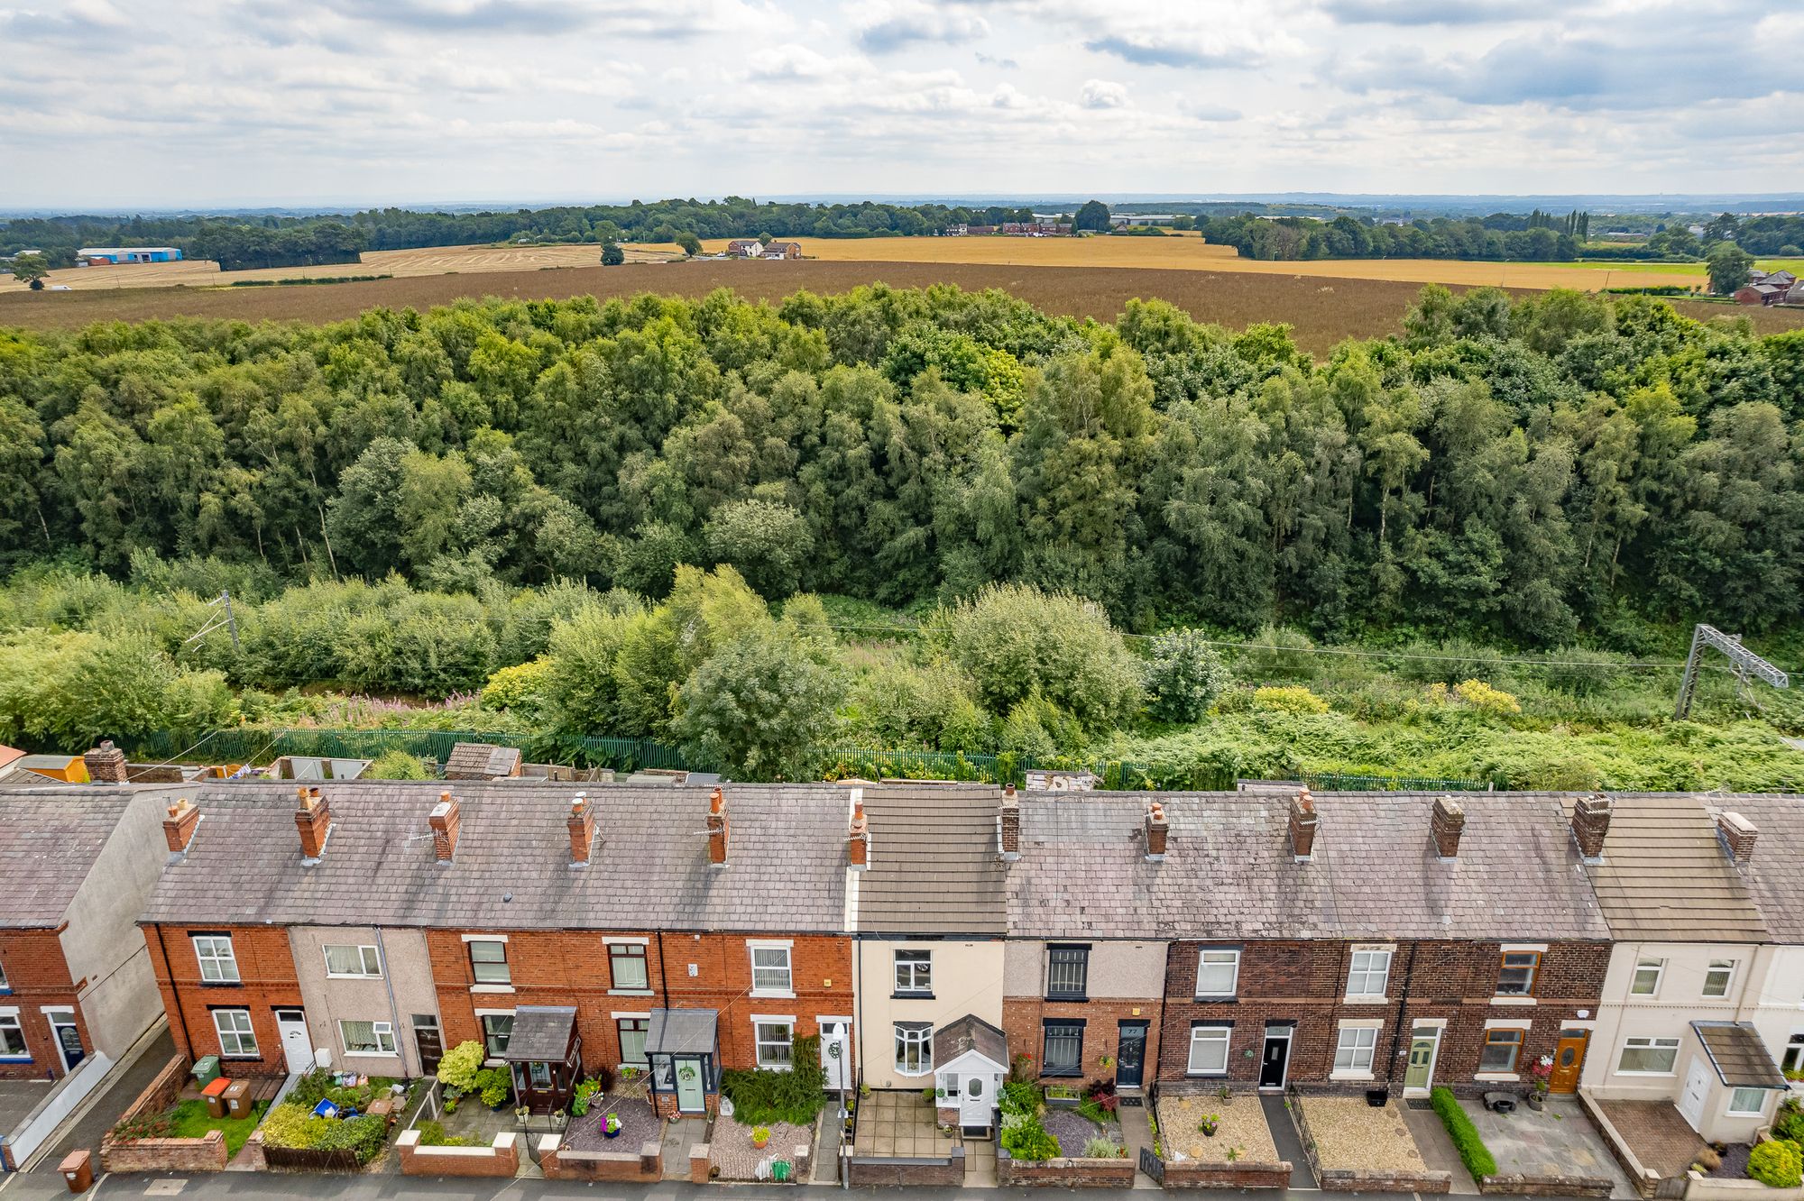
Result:
{"type": "MultiPolygon", "coordinates": [[[[951,242],[951,238],[947,238],[951,242]]],[[[658,292],[705,296],[727,287],[749,299],[781,299],[801,289],[844,292],[861,283],[918,289],[954,283],[1005,289],[1055,314],[1113,321],[1131,298],[1160,298],[1198,321],[1245,328],[1283,321],[1297,343],[1326,355],[1346,337],[1384,337],[1400,328],[1420,285],[1387,280],[1321,280],[1301,274],[1137,270],[1128,267],[996,267],[953,263],[695,261],[565,267],[489,274],[440,274],[368,283],[269,289],[126,289],[0,296],[0,326],[74,328],[96,321],[215,317],[236,321],[339,321],[366,308],[429,308],[467,296],[509,299],[601,298],[658,292]]],[[[1521,292],[1526,294],[1526,292],[1521,292]]],[[[1799,308],[1748,308],[1681,301],[1698,317],[1744,316],[1763,334],[1804,326],[1799,308]]]]}

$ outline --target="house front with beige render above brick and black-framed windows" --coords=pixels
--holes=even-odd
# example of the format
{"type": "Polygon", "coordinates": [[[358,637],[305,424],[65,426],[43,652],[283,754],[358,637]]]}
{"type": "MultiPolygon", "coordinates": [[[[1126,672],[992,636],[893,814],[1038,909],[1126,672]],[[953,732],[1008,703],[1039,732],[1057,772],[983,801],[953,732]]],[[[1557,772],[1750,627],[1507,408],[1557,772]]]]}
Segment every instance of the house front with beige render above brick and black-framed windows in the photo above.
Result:
{"type": "MultiPolygon", "coordinates": [[[[1142,1086],[1151,1086],[1158,1071],[1162,1013],[1165,994],[1165,947],[1162,941],[1113,940],[1021,940],[1012,938],[1003,952],[1003,1031],[1008,1053],[1032,1055],[1034,1073],[1045,1075],[1045,1021],[1081,1019],[1084,1044],[1081,1073],[1084,1080],[1113,1080],[1115,1068],[1102,1068],[1102,1057],[1115,1059],[1120,1022],[1146,1022],[1146,1062],[1142,1086]],[[1088,945],[1090,972],[1084,1001],[1046,999],[1046,947],[1088,945]]],[[[1054,1078],[1054,1077],[1048,1077],[1054,1078]]]]}

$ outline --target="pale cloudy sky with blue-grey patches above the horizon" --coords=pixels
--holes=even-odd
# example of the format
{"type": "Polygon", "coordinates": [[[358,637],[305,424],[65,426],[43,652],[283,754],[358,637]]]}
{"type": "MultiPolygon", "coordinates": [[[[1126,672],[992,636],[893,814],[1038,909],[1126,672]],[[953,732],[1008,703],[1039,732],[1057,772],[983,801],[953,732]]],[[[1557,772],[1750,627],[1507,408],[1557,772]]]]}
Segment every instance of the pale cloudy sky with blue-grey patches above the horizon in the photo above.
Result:
{"type": "Polygon", "coordinates": [[[0,207],[1791,191],[1799,0],[0,0],[0,207]]]}

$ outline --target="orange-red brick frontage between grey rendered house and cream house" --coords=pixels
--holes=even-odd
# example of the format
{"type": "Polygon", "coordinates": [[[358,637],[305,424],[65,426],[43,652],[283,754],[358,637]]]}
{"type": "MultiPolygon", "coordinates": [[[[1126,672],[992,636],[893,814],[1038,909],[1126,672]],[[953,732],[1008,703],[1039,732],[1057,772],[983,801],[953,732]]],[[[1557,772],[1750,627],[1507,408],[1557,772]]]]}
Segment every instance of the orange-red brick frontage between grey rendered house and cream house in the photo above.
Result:
{"type": "Polygon", "coordinates": [[[851,1017],[851,940],[844,936],[435,929],[426,931],[426,949],[446,1050],[482,1041],[487,1013],[568,1004],[577,1012],[584,1066],[617,1068],[619,1019],[648,1017],[655,1008],[709,1008],[718,1012],[720,1066],[754,1068],[754,1015],[792,1019],[797,1035],[819,1033],[819,1017],[851,1017]],[[507,985],[476,983],[471,940],[507,941],[507,985]],[[646,947],[648,988],[613,986],[610,943],[646,947]],[[752,990],[750,943],[790,947],[794,988],[752,990]]]}

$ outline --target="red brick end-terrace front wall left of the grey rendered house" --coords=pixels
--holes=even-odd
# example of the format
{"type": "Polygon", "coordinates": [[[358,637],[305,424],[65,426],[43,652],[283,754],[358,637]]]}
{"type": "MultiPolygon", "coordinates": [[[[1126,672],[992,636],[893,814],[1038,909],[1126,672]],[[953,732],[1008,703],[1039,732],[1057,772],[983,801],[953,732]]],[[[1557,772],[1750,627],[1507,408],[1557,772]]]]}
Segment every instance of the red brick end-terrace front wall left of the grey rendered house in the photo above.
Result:
{"type": "Polygon", "coordinates": [[[303,1008],[301,983],[289,950],[289,931],[280,925],[146,925],[150,968],[162,990],[175,1050],[189,1059],[220,1053],[213,1010],[249,1010],[256,1033],[256,1059],[227,1059],[226,1075],[287,1075],[287,1055],[276,1031],[276,1008],[303,1008]],[[229,934],[238,961],[238,983],[200,979],[195,934],[229,934]]]}

